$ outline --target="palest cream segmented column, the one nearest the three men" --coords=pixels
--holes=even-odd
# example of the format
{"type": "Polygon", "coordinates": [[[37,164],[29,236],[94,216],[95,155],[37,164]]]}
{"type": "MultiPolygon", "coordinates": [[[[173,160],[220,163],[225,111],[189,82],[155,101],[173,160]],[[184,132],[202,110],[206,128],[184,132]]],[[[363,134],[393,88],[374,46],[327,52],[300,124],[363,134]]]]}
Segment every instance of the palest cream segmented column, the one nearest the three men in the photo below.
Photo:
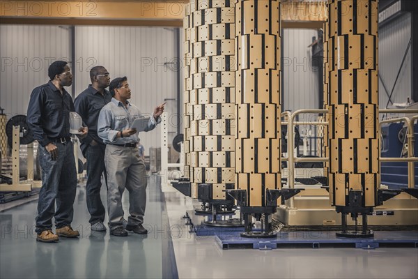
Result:
{"type": "MultiPolygon", "coordinates": [[[[190,1],[185,26],[185,153],[192,197],[233,206],[235,2],[190,1]]],[[[214,212],[215,213],[215,212],[214,212]]]]}

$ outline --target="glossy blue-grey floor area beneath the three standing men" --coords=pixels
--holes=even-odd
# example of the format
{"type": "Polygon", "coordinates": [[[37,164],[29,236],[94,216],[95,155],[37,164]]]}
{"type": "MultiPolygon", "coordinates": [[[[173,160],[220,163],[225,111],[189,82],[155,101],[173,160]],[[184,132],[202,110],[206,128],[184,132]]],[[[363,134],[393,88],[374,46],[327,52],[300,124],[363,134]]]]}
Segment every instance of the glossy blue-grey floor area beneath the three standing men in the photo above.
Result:
{"type": "MultiPolygon", "coordinates": [[[[163,223],[163,216],[167,214],[163,212],[162,195],[157,185],[153,179],[148,181],[144,220],[145,227],[150,231],[148,236],[130,233],[127,237],[117,237],[110,236],[109,232],[92,234],[84,186],[77,187],[75,200],[72,227],[81,234],[77,239],[61,238],[57,243],[36,241],[36,201],[1,212],[0,278],[172,277],[171,274],[164,274],[163,270],[162,255],[164,250],[167,251],[168,239],[163,229],[168,224],[163,223]]],[[[103,200],[104,197],[103,190],[103,200]]],[[[128,195],[125,194],[125,218],[128,204],[128,195]]]]}

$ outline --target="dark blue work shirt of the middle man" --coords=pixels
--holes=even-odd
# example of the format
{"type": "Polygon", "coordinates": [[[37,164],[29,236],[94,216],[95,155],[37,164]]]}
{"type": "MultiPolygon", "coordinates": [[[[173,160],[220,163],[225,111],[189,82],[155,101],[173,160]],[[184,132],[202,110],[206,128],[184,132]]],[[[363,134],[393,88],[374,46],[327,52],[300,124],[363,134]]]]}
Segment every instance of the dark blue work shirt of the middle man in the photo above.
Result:
{"type": "Polygon", "coordinates": [[[98,118],[100,110],[102,110],[102,107],[109,103],[110,100],[111,94],[109,91],[104,89],[102,95],[99,91],[94,89],[91,84],[75,98],[75,112],[82,116],[83,122],[86,123],[86,126],[88,127],[87,137],[80,140],[82,142],[80,148],[83,153],[92,140],[95,140],[95,142],[98,142],[99,144],[103,144],[102,139],[98,136],[98,118]]]}

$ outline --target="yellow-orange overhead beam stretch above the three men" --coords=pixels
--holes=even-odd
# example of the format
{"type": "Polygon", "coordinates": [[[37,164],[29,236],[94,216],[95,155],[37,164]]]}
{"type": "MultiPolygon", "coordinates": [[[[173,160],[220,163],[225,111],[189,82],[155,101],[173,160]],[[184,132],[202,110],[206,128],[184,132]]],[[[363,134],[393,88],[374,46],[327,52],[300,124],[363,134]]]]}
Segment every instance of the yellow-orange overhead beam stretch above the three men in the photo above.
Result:
{"type": "Polygon", "coordinates": [[[1,23],[178,27],[184,13],[185,1],[0,1],[1,23]],[[144,22],[135,24],[137,21],[144,22]]]}

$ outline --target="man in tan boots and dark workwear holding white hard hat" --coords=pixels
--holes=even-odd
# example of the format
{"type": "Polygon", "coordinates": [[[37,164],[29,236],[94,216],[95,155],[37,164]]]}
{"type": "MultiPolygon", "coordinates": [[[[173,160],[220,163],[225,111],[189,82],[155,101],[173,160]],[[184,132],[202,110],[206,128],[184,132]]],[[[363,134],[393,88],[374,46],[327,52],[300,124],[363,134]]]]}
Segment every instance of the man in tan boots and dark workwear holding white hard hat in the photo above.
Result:
{"type": "MultiPolygon", "coordinates": [[[[77,189],[77,172],[70,137],[70,112],[74,103],[64,86],[72,84],[70,67],[55,61],[48,68],[49,82],[33,89],[27,111],[27,122],[38,140],[38,156],[42,169],[42,188],[36,216],[37,241],[55,242],[59,236],[77,237],[71,227],[73,204],[77,189]],[[56,202],[56,210],[55,210],[56,202]],[[55,218],[56,234],[52,232],[55,218]]],[[[79,129],[80,138],[88,128],[79,129]]]]}

